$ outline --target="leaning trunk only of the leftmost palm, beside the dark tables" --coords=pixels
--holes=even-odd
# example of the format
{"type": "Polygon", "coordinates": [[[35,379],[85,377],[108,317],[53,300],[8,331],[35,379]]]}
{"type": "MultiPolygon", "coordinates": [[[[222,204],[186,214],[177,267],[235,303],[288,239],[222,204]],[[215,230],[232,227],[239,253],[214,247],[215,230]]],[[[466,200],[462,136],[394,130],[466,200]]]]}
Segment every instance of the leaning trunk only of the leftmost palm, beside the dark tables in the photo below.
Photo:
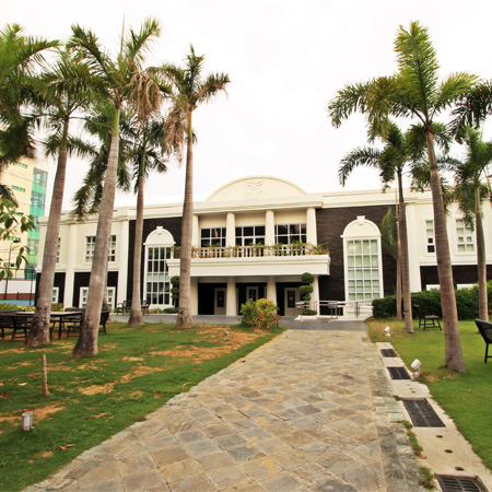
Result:
{"type": "Polygon", "coordinates": [[[36,312],[33,325],[24,344],[28,347],[49,343],[49,315],[51,313],[52,284],[57,265],[58,237],[60,234],[61,209],[63,206],[65,179],[67,176],[67,139],[69,119],[63,126],[61,150],[58,153],[57,174],[49,208],[48,227],[46,229],[45,250],[43,253],[43,272],[37,291],[36,312]]]}

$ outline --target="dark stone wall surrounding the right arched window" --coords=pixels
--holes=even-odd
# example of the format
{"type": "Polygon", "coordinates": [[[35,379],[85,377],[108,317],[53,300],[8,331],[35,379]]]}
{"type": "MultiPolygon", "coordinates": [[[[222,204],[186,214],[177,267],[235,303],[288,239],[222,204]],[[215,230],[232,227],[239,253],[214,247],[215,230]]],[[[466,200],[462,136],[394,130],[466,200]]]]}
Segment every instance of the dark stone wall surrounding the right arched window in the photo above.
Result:
{"type": "MultiPolygon", "coordinates": [[[[395,211],[395,207],[390,208],[395,211]]],[[[340,207],[316,211],[318,244],[324,244],[329,249],[331,258],[330,274],[319,277],[321,301],[344,300],[343,239],[340,237],[343,230],[359,215],[365,215],[380,229],[387,212],[387,206],[340,207]]],[[[396,291],[396,260],[385,248],[382,247],[382,251],[384,294],[388,295],[396,291]]]]}

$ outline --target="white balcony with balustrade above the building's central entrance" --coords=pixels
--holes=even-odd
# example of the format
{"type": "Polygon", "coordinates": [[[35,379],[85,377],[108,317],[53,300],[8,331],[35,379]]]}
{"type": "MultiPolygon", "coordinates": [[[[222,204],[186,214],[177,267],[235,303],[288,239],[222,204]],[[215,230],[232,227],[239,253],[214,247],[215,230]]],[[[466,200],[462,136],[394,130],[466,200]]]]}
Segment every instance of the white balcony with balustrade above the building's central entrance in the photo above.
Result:
{"type": "MultiPolygon", "coordinates": [[[[168,260],[169,274],[179,274],[179,248],[168,260]]],[[[305,243],[273,246],[209,246],[191,250],[191,277],[263,277],[329,274],[330,257],[323,246],[305,243]]]]}

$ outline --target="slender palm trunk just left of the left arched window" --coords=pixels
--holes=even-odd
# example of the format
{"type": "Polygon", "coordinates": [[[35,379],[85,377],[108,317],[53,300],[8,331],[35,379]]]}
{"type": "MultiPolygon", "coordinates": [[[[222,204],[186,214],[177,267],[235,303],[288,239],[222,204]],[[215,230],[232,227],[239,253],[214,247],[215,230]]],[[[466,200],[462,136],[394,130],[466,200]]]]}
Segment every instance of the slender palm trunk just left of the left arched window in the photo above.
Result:
{"type": "Polygon", "coordinates": [[[145,154],[142,153],[139,174],[139,191],[137,195],[137,220],[134,223],[134,250],[133,250],[133,282],[131,289],[131,312],[129,326],[142,326],[142,305],[140,294],[140,268],[142,258],[142,237],[143,237],[143,187],[145,177],[143,168],[145,165],[145,154]]]}

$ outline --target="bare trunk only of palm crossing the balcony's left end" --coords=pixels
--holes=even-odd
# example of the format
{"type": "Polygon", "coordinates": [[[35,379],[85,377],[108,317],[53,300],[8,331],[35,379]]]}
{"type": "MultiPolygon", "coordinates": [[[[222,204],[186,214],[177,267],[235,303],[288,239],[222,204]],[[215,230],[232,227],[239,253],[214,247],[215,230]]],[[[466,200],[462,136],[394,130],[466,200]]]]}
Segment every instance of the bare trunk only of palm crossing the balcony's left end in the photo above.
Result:
{"type": "Polygon", "coordinates": [[[191,328],[191,231],[194,220],[194,141],[191,112],[188,114],[185,201],[183,204],[181,256],[179,261],[179,308],[176,328],[191,328]]]}

